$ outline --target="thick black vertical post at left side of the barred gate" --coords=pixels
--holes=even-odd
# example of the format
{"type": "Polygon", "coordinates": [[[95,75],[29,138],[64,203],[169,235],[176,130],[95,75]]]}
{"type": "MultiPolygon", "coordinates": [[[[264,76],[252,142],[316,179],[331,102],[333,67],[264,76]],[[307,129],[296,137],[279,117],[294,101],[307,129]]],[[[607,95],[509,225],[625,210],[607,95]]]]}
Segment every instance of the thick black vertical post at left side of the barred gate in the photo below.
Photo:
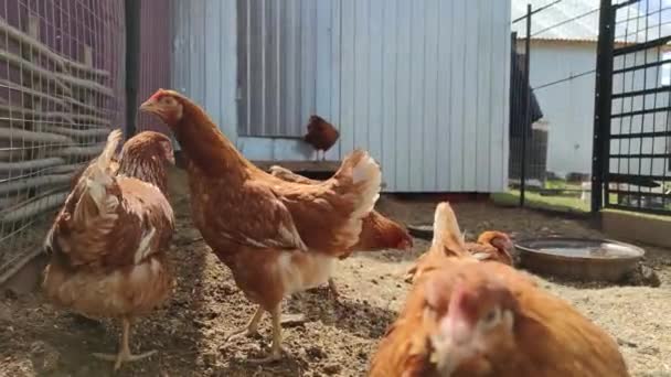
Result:
{"type": "Polygon", "coordinates": [[[601,0],[599,39],[596,56],[596,85],[594,108],[594,140],[592,154],[592,213],[604,205],[604,183],[608,174],[608,134],[613,95],[613,0],[601,0]]]}

